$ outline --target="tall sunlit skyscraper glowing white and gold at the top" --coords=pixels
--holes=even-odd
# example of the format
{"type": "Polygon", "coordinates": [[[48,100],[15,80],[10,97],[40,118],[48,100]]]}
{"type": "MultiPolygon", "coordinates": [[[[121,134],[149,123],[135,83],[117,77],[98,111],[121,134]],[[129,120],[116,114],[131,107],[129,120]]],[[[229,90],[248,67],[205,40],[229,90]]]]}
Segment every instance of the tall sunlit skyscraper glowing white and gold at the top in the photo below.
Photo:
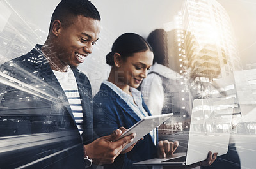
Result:
{"type": "Polygon", "coordinates": [[[175,23],[179,73],[194,99],[211,97],[210,82],[242,69],[230,18],[216,0],[187,0],[175,23]]]}

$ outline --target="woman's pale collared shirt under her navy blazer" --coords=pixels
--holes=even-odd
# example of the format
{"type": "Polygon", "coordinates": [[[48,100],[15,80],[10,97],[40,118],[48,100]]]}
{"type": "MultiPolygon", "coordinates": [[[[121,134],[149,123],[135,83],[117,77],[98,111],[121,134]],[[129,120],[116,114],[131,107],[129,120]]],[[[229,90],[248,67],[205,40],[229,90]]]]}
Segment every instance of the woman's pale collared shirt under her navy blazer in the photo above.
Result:
{"type": "MultiPolygon", "coordinates": [[[[108,85],[113,91],[122,98],[129,107],[140,117],[140,119],[143,119],[143,117],[148,116],[148,113],[143,108],[142,105],[142,97],[141,92],[137,89],[130,87],[130,91],[132,93],[132,96],[124,92],[122,89],[117,87],[115,84],[109,82],[108,80],[103,81],[104,84],[108,85]]],[[[150,131],[150,136],[154,139],[154,144],[156,145],[156,129],[153,129],[150,131]]]]}

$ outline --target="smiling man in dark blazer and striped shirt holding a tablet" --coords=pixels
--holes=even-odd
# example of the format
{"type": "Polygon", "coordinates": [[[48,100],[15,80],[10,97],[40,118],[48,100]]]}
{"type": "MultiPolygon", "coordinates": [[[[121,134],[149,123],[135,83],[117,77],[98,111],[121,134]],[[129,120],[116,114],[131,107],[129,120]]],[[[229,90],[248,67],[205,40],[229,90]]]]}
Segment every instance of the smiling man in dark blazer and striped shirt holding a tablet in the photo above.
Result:
{"type": "Polygon", "coordinates": [[[77,66],[99,33],[100,15],[90,1],[63,0],[44,45],[0,66],[0,168],[113,163],[132,141],[133,134],[115,141],[124,128],[93,141],[92,89],[77,66]]]}

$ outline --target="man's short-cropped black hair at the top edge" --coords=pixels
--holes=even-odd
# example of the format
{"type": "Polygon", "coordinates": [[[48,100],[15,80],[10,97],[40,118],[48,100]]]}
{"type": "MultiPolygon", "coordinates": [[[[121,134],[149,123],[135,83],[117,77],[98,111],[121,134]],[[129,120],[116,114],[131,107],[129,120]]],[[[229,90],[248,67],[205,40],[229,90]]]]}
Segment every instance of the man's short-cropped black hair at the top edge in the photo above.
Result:
{"type": "Polygon", "coordinates": [[[88,0],[62,0],[52,13],[51,24],[54,20],[60,20],[62,24],[68,25],[70,18],[76,16],[90,17],[100,21],[97,8],[88,0]],[[67,22],[66,22],[67,21],[67,22]]]}

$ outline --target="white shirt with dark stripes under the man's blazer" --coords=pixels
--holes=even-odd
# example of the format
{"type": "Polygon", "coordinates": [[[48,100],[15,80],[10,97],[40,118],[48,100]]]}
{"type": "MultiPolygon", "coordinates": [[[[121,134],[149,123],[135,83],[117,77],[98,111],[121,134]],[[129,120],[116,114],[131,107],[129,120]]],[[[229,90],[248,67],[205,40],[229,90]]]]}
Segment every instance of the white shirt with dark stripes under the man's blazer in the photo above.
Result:
{"type": "Polygon", "coordinates": [[[54,70],[52,71],[58,79],[58,81],[60,82],[60,85],[67,96],[68,103],[70,105],[74,119],[76,121],[77,128],[79,129],[79,133],[82,134],[83,108],[74,73],[71,70],[71,68],[68,68],[67,72],[60,72],[54,70]]]}

